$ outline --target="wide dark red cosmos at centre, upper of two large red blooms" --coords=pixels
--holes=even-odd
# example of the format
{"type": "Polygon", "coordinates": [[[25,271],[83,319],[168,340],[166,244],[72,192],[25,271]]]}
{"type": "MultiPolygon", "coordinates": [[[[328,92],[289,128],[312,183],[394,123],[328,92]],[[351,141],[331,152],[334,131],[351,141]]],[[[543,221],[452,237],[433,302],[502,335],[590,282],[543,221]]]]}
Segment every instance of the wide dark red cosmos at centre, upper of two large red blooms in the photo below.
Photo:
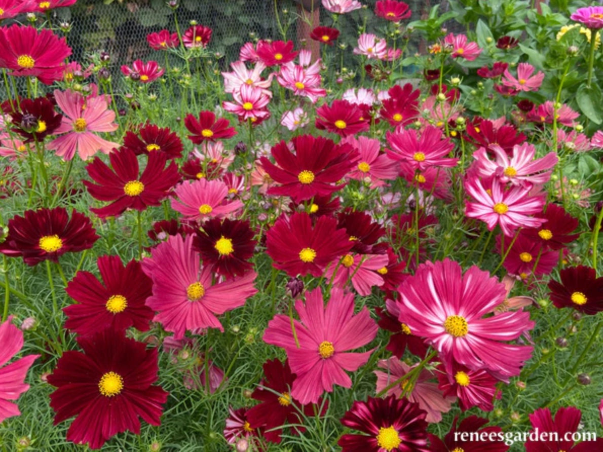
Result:
{"type": "Polygon", "coordinates": [[[289,196],[294,202],[329,196],[344,184],[335,185],[358,160],[358,152],[348,144],[336,145],[324,137],[300,135],[291,139],[295,154],[282,141],[271,149],[274,165],[260,157],[265,171],[278,187],[270,187],[268,195],[289,196]]]}

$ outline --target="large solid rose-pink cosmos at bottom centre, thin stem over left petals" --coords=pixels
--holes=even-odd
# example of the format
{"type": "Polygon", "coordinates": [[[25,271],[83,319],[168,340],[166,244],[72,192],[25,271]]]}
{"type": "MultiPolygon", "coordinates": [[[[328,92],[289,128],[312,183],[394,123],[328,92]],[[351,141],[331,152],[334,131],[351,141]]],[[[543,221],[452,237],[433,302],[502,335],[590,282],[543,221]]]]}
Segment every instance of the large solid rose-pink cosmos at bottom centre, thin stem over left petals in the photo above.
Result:
{"type": "Polygon", "coordinates": [[[351,388],[352,380],[344,371],[356,371],[373,351],[349,351],[371,342],[378,329],[367,307],[354,315],[354,295],[339,289],[331,290],[325,307],[318,287],[306,293],[305,304],[297,300],[295,310],[298,321],[277,315],[264,332],[264,342],[285,349],[297,375],[291,397],[301,404],[318,403],[324,391],[333,391],[333,385],[351,388]]]}

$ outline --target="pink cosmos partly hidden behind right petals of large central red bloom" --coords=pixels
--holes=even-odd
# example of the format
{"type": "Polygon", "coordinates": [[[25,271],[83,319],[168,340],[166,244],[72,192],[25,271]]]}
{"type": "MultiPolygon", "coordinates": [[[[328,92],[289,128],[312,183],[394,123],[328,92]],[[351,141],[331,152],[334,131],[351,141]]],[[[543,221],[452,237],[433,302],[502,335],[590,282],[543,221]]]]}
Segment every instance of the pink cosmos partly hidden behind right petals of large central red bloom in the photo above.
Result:
{"type": "Polygon", "coordinates": [[[356,168],[347,174],[347,178],[370,183],[371,188],[387,186],[386,180],[395,180],[399,165],[387,154],[380,153],[379,140],[359,136],[358,139],[348,136],[341,140],[358,150],[360,160],[356,168]]]}

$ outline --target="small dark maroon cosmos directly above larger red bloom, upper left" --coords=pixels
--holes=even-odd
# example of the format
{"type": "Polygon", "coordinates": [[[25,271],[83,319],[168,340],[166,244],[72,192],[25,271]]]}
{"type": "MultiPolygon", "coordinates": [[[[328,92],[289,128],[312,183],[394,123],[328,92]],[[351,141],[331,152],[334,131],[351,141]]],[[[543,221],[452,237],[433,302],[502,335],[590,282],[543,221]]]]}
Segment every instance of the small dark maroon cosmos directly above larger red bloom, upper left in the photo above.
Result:
{"type": "Polygon", "coordinates": [[[178,134],[169,130],[169,127],[159,128],[155,124],[145,124],[138,133],[126,132],[124,145],[121,149],[128,148],[136,155],[159,152],[166,159],[180,159],[182,157],[182,141],[178,134]]]}

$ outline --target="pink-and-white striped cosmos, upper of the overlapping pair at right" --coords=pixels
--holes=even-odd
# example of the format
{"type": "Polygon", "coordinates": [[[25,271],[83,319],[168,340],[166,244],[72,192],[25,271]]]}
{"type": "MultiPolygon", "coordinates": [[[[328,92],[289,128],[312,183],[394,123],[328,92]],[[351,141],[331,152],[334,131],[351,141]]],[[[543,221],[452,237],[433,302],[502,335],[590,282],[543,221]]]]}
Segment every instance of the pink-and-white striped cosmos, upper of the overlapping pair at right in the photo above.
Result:
{"type": "Polygon", "coordinates": [[[555,152],[549,152],[541,159],[535,159],[536,148],[530,143],[513,146],[513,157],[499,145],[490,145],[488,150],[494,153],[494,161],[490,160],[485,148],[479,148],[473,153],[476,174],[488,178],[494,175],[500,183],[528,186],[529,184],[544,184],[551,178],[552,169],[559,158],[555,152]]]}

